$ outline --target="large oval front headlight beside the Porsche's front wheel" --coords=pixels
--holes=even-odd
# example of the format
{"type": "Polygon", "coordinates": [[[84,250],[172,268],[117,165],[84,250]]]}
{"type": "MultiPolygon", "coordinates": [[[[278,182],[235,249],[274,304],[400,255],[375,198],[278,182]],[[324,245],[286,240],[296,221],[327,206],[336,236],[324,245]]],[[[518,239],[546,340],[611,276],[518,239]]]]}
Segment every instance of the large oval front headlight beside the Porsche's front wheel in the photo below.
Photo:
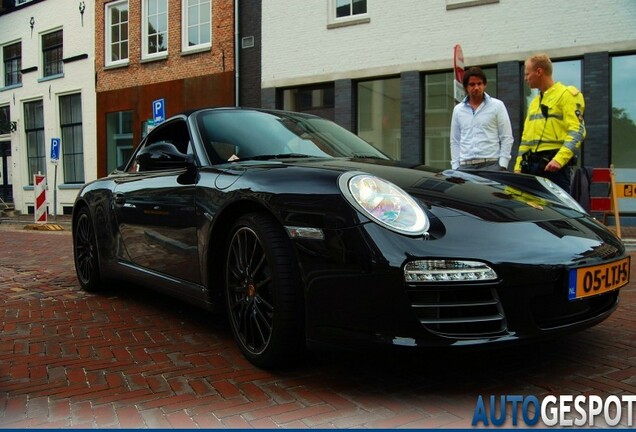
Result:
{"type": "Polygon", "coordinates": [[[338,179],[349,203],[379,225],[406,235],[421,235],[430,225],[413,198],[398,186],[364,173],[345,173],[338,179]]]}

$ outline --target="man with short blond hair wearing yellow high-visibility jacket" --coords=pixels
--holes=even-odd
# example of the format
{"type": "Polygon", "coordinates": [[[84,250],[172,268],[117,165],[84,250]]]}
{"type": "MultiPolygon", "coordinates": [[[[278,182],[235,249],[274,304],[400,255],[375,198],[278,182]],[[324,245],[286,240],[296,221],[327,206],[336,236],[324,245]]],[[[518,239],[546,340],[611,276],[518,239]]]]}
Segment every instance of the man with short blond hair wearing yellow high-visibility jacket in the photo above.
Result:
{"type": "Polygon", "coordinates": [[[552,62],[545,54],[526,60],[525,80],[540,93],[528,108],[514,170],[545,177],[569,192],[572,167],[586,133],[583,94],[554,82],[552,62]]]}

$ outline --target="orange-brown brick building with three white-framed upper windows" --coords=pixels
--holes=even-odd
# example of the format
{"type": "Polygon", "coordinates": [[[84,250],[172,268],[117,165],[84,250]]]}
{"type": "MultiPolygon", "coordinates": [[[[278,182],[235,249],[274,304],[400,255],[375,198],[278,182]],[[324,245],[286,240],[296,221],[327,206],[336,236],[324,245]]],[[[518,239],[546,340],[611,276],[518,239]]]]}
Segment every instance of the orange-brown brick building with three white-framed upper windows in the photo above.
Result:
{"type": "Polygon", "coordinates": [[[166,118],[235,104],[232,0],[98,0],[96,10],[98,175],[127,161],[154,101],[166,118]]]}

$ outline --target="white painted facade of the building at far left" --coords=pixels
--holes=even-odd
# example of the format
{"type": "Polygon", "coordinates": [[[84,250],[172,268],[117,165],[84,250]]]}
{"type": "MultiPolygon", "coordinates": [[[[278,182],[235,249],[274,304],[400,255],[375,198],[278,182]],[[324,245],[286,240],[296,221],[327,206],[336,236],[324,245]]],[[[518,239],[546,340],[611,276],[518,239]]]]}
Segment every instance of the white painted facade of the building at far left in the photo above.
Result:
{"type": "MultiPolygon", "coordinates": [[[[21,10],[0,16],[0,46],[22,41],[22,68],[37,66],[36,72],[22,76],[22,86],[0,87],[0,106],[10,106],[11,120],[17,121],[17,131],[0,139],[11,141],[13,193],[16,210],[27,212],[34,205],[33,188],[29,187],[26,136],[24,132],[24,103],[41,99],[44,108],[45,147],[47,155],[47,201],[50,214],[54,213],[54,165],[50,163],[51,138],[61,137],[58,97],[71,93],[82,94],[82,122],[84,133],[85,181],[96,178],[97,149],[95,124],[95,2],[84,1],[85,10],[79,11],[79,1],[47,0],[21,10]],[[31,31],[30,20],[34,26],[31,31]],[[64,64],[64,77],[42,81],[41,35],[51,30],[63,29],[63,56],[70,58],[88,54],[88,58],[64,64]]],[[[4,85],[4,78],[0,86],[4,85]]],[[[71,206],[81,185],[63,185],[63,162],[57,169],[57,209],[71,206]]]]}

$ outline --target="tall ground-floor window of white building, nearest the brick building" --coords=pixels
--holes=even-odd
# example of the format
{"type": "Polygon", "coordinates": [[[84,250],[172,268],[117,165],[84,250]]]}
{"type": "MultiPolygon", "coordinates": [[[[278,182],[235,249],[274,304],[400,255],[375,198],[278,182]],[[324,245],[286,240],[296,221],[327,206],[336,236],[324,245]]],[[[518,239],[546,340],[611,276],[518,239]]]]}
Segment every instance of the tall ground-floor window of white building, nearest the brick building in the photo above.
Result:
{"type": "Polygon", "coordinates": [[[64,183],[84,183],[84,137],[82,134],[82,97],[60,97],[60,130],[64,183]]]}

